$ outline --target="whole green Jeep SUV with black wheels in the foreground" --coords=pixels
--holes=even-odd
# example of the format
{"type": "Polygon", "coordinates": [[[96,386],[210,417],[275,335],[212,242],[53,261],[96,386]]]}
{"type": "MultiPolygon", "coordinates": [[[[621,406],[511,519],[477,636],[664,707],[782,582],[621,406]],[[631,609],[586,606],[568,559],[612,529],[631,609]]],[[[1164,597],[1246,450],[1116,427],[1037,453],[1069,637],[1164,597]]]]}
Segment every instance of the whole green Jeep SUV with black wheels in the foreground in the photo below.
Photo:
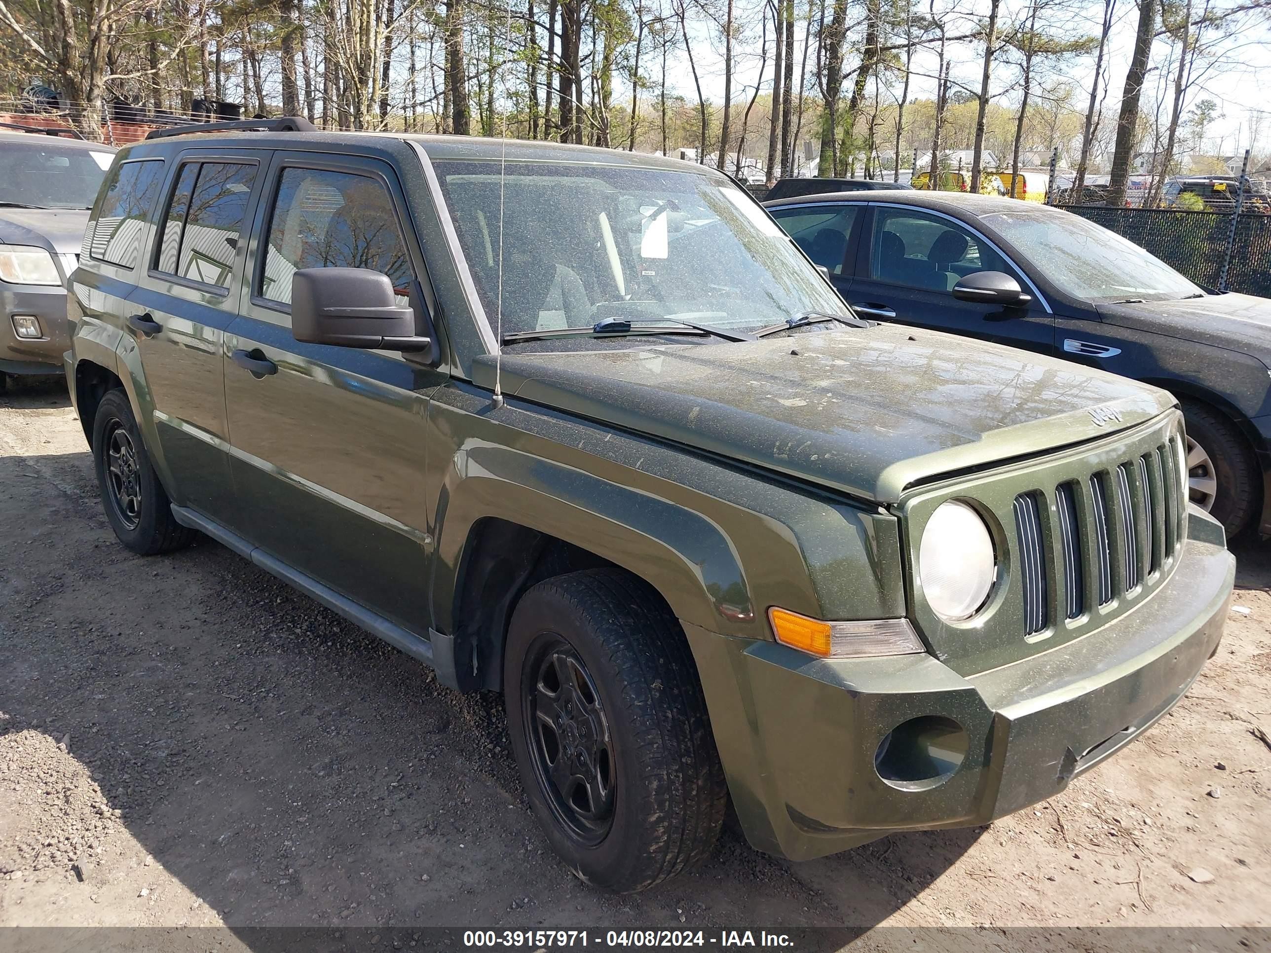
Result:
{"type": "Polygon", "coordinates": [[[119,540],[203,534],[502,693],[590,883],[702,860],[730,799],[791,859],[988,823],[1218,647],[1168,394],[859,320],[710,169],[286,119],[105,194],[66,374],[119,540]]]}

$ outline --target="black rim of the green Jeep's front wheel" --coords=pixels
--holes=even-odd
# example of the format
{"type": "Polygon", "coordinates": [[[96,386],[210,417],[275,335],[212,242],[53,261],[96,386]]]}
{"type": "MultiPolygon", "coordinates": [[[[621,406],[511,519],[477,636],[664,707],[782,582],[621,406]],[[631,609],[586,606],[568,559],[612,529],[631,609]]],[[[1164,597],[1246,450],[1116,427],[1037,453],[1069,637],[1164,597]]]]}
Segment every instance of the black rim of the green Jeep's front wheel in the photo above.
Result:
{"type": "Polygon", "coordinates": [[[599,844],[614,823],[616,761],[596,682],[563,638],[540,635],[521,670],[526,742],[557,820],[599,844]]]}

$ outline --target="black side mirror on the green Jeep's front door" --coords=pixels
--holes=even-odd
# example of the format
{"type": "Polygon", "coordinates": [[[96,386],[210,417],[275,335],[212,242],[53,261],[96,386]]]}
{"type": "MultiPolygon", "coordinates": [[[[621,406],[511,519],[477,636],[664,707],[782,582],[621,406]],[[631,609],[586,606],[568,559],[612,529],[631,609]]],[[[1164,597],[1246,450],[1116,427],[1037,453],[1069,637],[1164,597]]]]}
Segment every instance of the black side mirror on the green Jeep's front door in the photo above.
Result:
{"type": "Polygon", "coordinates": [[[388,274],[370,268],[301,268],[291,276],[291,334],[306,344],[432,351],[416,334],[414,309],[400,305],[388,274]]]}

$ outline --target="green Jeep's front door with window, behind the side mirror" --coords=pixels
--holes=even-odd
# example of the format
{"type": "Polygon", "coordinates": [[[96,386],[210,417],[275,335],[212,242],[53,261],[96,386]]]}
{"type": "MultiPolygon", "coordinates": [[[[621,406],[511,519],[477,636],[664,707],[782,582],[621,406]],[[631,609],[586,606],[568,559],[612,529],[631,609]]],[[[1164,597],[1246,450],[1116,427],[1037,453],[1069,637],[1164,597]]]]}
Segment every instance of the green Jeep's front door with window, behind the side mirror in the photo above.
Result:
{"type": "Polygon", "coordinates": [[[419,635],[432,540],[428,395],[444,376],[399,353],[291,335],[300,268],[372,268],[418,302],[418,249],[391,168],[278,152],[255,219],[240,316],[226,334],[233,529],[294,569],[419,635]]]}

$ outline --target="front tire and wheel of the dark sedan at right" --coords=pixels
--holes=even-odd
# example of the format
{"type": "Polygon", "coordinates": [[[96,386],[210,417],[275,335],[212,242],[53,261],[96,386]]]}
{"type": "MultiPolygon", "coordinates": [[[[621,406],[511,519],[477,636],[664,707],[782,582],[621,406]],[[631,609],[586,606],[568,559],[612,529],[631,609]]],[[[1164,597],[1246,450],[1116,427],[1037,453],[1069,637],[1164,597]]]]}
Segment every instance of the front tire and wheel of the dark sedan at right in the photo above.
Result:
{"type": "Polygon", "coordinates": [[[1183,402],[1183,421],[1190,499],[1221,522],[1230,539],[1248,526],[1262,502],[1253,454],[1235,424],[1205,404],[1183,402]]]}

